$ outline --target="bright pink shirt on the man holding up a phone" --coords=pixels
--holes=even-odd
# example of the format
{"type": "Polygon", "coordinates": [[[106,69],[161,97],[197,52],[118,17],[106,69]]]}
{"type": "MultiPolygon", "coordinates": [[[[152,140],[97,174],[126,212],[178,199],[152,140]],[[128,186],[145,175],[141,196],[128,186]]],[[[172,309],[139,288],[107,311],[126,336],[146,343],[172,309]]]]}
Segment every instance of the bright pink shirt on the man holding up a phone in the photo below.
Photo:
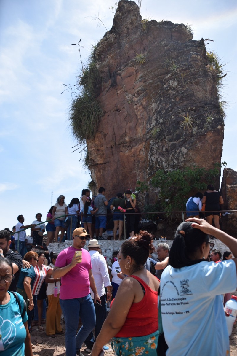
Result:
{"type": "MultiPolygon", "coordinates": [[[[61,251],[56,258],[55,267],[69,265],[75,251],[80,251],[80,249],[70,246],[61,251]]],[[[60,299],[82,298],[90,293],[89,269],[92,269],[91,257],[90,253],[84,248],[81,251],[82,261],[61,277],[60,299]]]]}

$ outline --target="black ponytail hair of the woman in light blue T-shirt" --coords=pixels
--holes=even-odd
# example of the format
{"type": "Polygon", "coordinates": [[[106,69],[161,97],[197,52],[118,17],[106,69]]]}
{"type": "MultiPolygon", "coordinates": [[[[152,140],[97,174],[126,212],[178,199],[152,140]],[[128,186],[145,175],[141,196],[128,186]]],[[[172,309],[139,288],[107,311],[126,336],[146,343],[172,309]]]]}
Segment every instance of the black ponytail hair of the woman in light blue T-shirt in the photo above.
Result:
{"type": "Polygon", "coordinates": [[[190,221],[181,223],[169,251],[169,264],[173,268],[182,268],[204,261],[203,259],[195,260],[195,253],[203,242],[208,244],[209,235],[192,227],[190,221]]]}

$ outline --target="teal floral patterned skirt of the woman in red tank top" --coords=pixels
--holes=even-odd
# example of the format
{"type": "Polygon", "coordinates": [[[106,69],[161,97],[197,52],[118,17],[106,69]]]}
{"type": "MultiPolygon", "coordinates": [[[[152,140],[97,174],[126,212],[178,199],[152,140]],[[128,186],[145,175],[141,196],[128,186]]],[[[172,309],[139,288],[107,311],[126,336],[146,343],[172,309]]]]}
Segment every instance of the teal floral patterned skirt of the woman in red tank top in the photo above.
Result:
{"type": "Polygon", "coordinates": [[[146,336],[138,337],[113,337],[111,342],[116,356],[157,356],[156,347],[159,331],[146,336]]]}

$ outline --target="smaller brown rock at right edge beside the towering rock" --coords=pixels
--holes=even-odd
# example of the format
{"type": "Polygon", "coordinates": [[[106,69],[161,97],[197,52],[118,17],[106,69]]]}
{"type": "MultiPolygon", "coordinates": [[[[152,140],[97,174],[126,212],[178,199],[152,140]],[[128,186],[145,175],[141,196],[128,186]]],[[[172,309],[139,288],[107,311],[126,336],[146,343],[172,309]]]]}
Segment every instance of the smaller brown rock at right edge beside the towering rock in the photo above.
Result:
{"type": "MultiPolygon", "coordinates": [[[[224,168],[221,183],[221,195],[224,200],[222,210],[237,210],[237,172],[224,168]]],[[[223,230],[237,238],[237,212],[222,218],[223,230]]]]}

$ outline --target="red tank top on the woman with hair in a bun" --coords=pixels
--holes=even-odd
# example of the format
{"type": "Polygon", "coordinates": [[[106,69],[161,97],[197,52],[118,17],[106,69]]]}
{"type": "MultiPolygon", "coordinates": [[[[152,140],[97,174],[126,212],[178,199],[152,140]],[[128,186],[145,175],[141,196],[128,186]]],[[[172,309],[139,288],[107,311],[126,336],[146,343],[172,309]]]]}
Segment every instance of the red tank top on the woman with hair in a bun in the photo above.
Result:
{"type": "Polygon", "coordinates": [[[136,337],[155,333],[158,330],[158,293],[147,286],[141,278],[129,277],[140,282],[146,293],[140,302],[131,305],[125,323],[115,337],[136,337]]]}

